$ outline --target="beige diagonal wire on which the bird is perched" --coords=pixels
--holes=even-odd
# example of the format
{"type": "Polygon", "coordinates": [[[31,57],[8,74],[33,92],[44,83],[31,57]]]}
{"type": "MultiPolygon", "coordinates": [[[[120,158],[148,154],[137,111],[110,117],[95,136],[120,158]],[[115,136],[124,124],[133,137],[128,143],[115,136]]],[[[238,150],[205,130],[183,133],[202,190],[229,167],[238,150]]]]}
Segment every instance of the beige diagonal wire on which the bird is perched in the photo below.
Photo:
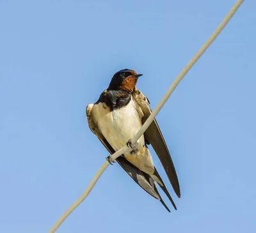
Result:
{"type": "MultiPolygon", "coordinates": [[[[170,95],[173,93],[174,89],[178,86],[179,82],[184,78],[184,76],[186,75],[186,73],[188,73],[188,71],[192,68],[192,66],[196,63],[196,61],[198,61],[198,59],[202,56],[202,54],[204,54],[205,50],[208,49],[208,47],[211,45],[211,43],[216,39],[216,37],[221,33],[222,29],[227,25],[228,21],[232,18],[232,16],[236,13],[237,9],[239,8],[239,6],[241,6],[241,4],[243,3],[244,0],[238,0],[236,2],[236,4],[234,4],[234,6],[231,8],[231,10],[228,12],[228,14],[226,15],[226,17],[223,19],[223,21],[221,22],[221,24],[217,27],[217,29],[214,31],[214,33],[212,33],[211,37],[205,42],[205,44],[201,47],[201,49],[197,52],[197,54],[191,59],[191,61],[189,61],[189,63],[185,66],[185,68],[180,72],[180,74],[177,76],[177,78],[174,80],[174,82],[172,83],[172,85],[169,87],[168,91],[164,94],[163,98],[161,99],[161,101],[158,103],[156,109],[154,109],[154,111],[152,112],[152,114],[148,117],[147,121],[143,124],[143,126],[141,126],[140,130],[136,133],[136,135],[131,139],[131,143],[134,144],[138,139],[140,139],[141,135],[143,135],[143,133],[145,133],[145,131],[147,130],[148,126],[150,126],[150,124],[152,123],[152,121],[154,121],[154,118],[156,117],[156,115],[158,114],[158,112],[162,109],[164,103],[166,103],[166,101],[168,100],[168,98],[170,97],[170,95]]],[[[124,146],[121,149],[119,149],[118,151],[116,151],[116,153],[111,155],[111,159],[115,160],[116,158],[118,158],[118,156],[120,156],[121,154],[124,154],[125,151],[127,151],[129,149],[129,147],[124,146]]],[[[95,176],[93,177],[92,181],[90,182],[90,184],[88,185],[88,188],[86,188],[86,190],[84,191],[84,193],[79,197],[79,199],[76,200],[76,202],[74,202],[74,204],[72,204],[72,206],[70,206],[67,211],[65,211],[65,213],[63,213],[63,215],[60,217],[60,219],[54,224],[54,226],[52,227],[51,230],[49,230],[49,233],[54,233],[61,225],[61,223],[64,222],[64,220],[68,217],[68,215],[70,213],[72,213],[72,211],[74,211],[74,209],[76,209],[77,206],[79,206],[79,204],[81,204],[81,202],[83,202],[83,200],[88,196],[88,194],[91,192],[91,190],[93,189],[93,186],[97,183],[99,177],[102,175],[102,173],[104,172],[104,170],[106,170],[106,168],[108,167],[109,162],[106,161],[102,167],[100,167],[100,169],[98,170],[98,172],[95,174],[95,176]]]]}

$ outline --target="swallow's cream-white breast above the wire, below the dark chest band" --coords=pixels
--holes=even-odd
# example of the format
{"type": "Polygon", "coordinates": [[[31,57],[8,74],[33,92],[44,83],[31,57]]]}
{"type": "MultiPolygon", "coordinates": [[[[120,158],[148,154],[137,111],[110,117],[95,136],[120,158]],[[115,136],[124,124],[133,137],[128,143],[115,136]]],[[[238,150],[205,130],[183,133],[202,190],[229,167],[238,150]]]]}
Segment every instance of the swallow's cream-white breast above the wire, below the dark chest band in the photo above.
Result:
{"type": "MultiPolygon", "coordinates": [[[[142,112],[133,98],[125,107],[112,112],[104,108],[103,103],[99,103],[94,105],[92,113],[100,132],[116,151],[125,146],[141,128],[142,112]]],[[[139,147],[145,144],[143,136],[138,140],[138,144],[139,147]]]]}

